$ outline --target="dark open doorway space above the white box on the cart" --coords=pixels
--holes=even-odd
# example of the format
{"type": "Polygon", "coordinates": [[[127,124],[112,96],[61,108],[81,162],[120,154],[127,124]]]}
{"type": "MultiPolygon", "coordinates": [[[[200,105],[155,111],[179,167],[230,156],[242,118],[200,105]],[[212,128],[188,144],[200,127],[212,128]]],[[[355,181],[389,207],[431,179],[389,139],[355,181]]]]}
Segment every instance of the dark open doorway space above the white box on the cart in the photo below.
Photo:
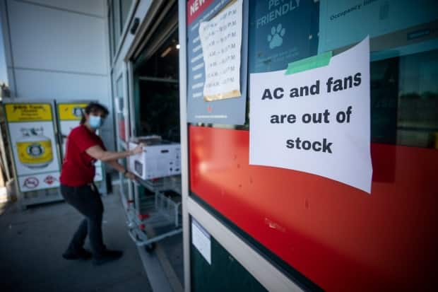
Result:
{"type": "Polygon", "coordinates": [[[134,64],[137,136],[159,135],[179,143],[178,53],[175,28],[154,54],[148,56],[146,48],[134,64]]]}

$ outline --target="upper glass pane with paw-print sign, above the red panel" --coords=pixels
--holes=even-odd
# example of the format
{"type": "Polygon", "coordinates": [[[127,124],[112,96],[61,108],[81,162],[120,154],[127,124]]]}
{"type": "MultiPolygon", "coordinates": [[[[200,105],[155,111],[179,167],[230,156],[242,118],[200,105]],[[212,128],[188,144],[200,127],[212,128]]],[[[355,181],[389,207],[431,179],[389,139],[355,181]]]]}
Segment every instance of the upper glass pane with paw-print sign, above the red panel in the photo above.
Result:
{"type": "Polygon", "coordinates": [[[291,1],[283,8],[254,1],[250,73],[282,70],[330,50],[339,54],[369,35],[372,142],[438,148],[436,2],[356,2],[291,1]]]}

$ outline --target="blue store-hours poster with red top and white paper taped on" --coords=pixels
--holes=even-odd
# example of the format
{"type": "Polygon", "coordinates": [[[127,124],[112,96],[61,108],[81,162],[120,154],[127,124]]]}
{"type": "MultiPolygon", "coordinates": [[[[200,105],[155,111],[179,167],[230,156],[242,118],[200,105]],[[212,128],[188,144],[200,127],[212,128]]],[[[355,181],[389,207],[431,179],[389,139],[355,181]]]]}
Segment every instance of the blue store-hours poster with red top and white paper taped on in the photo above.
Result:
{"type": "Polygon", "coordinates": [[[188,122],[244,124],[247,3],[188,1],[188,122]]]}

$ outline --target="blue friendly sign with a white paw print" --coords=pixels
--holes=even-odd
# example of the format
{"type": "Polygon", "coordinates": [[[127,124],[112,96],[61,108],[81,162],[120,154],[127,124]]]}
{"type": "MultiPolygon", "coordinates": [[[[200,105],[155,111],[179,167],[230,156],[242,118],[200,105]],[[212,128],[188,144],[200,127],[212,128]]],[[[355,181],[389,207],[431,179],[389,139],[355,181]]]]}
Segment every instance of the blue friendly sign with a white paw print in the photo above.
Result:
{"type": "Polygon", "coordinates": [[[249,72],[284,70],[318,52],[319,1],[251,1],[249,72]]]}

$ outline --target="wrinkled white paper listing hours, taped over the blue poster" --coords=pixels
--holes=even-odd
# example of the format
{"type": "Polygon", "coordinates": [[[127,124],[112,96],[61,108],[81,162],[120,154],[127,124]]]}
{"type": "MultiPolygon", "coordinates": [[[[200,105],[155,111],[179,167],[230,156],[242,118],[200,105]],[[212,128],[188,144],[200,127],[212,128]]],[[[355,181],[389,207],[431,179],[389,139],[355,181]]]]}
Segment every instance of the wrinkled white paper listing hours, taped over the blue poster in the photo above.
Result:
{"type": "MultiPolygon", "coordinates": [[[[235,1],[211,21],[199,25],[199,38],[206,69],[205,100],[236,98],[240,93],[242,47],[242,0],[235,1]]],[[[196,57],[193,58],[196,62],[196,57]]]]}

